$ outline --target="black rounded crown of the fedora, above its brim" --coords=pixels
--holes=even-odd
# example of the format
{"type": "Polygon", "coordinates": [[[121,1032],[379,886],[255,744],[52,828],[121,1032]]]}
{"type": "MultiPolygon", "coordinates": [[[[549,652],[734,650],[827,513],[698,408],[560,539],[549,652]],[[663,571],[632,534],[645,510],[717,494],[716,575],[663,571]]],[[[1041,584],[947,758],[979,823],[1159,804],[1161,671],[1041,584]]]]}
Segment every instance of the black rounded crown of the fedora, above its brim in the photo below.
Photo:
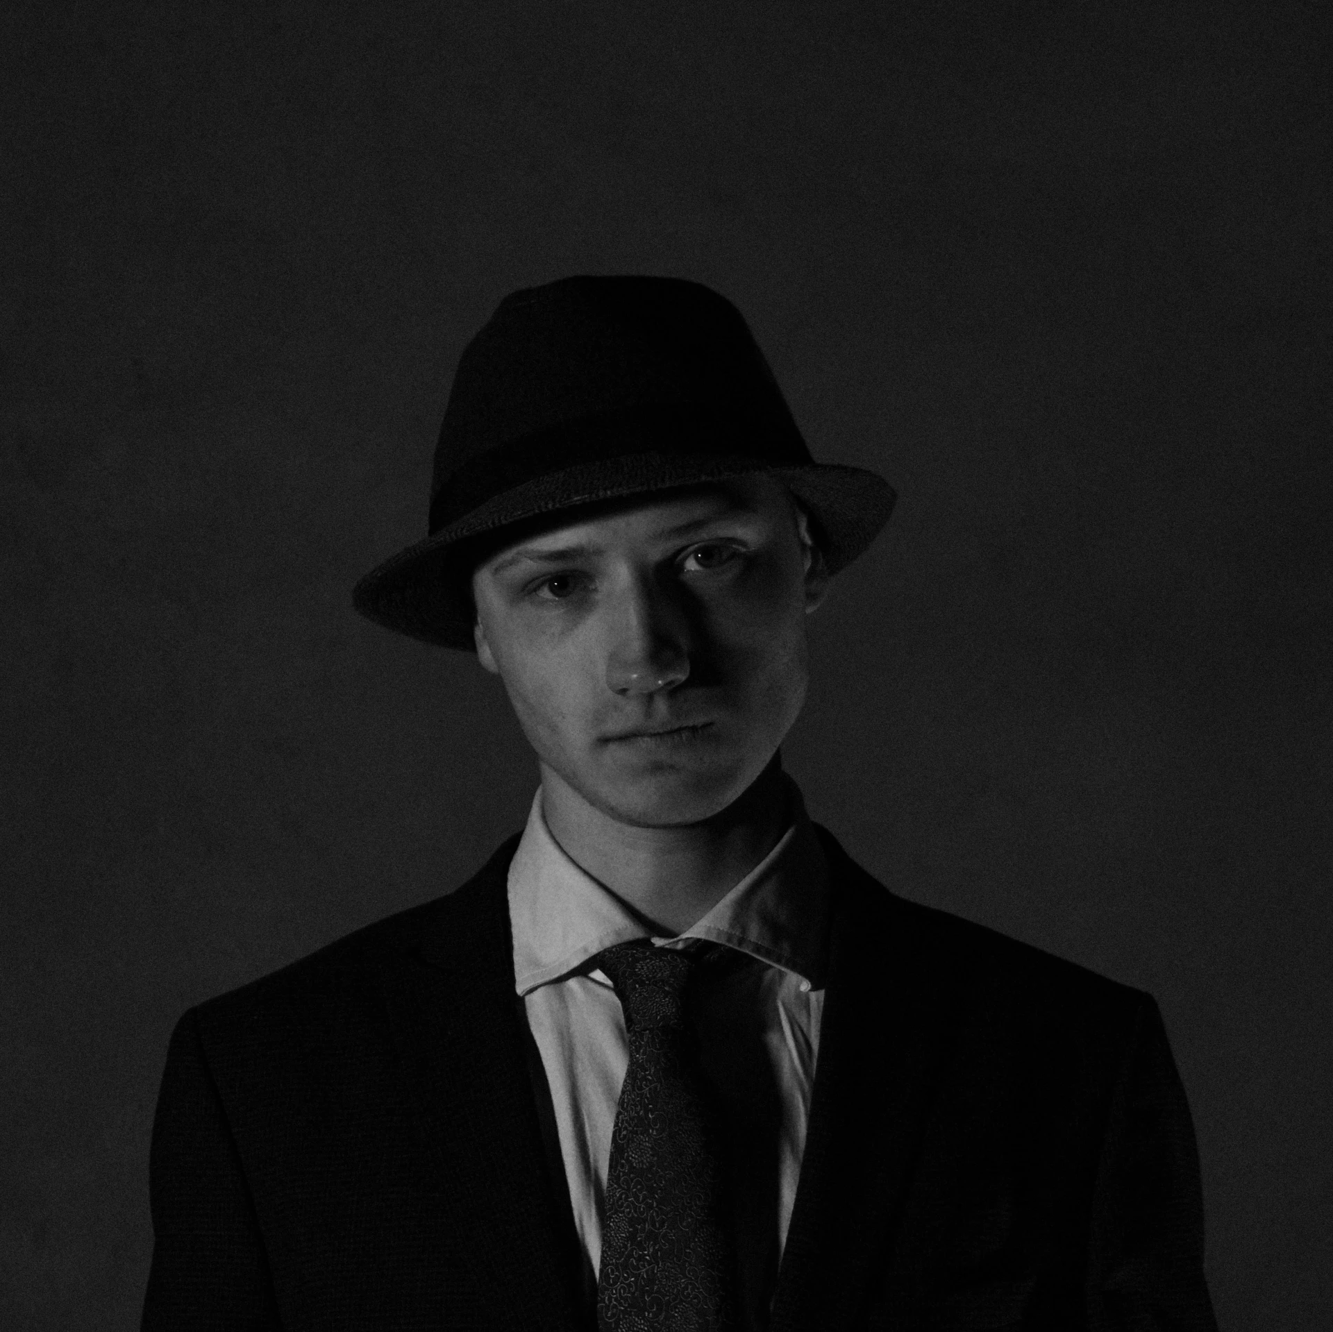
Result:
{"type": "MultiPolygon", "coordinates": [[[[740,311],[676,277],[577,276],[507,296],[464,348],[431,487],[431,527],[471,503],[468,473],[495,451],[521,449],[539,472],[567,461],[571,433],[620,431],[625,452],[809,451],[740,311]]],[[[497,460],[499,461],[499,460],[497,460]]]]}

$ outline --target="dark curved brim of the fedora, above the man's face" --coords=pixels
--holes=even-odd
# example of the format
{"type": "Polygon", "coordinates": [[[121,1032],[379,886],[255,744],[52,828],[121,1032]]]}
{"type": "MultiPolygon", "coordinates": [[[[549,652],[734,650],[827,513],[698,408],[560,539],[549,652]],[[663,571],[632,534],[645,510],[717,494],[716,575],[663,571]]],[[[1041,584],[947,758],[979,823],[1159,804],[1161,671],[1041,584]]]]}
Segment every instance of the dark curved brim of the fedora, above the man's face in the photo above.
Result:
{"type": "Polygon", "coordinates": [[[752,456],[631,453],[576,464],[496,495],[456,523],[407,547],[367,573],[352,592],[356,609],[397,633],[472,652],[473,607],[463,573],[480,540],[503,528],[604,500],[680,489],[768,472],[809,511],[830,573],[861,555],[889,519],[896,492],[858,467],[810,463],[773,467],[752,456]]]}

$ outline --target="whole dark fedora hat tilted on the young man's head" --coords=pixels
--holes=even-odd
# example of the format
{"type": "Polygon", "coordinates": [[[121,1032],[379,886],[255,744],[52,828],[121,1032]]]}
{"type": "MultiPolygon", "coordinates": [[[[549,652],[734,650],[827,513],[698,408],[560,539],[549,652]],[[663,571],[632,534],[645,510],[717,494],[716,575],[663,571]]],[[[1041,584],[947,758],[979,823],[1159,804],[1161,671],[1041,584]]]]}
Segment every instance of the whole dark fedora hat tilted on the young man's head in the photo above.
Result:
{"type": "Polygon", "coordinates": [[[820,464],[738,309],[673,277],[565,277],[507,296],[464,348],[440,428],[427,537],[352,595],[399,633],[473,649],[471,573],[588,505],[776,476],[829,572],[874,540],[893,488],[820,464]]]}

